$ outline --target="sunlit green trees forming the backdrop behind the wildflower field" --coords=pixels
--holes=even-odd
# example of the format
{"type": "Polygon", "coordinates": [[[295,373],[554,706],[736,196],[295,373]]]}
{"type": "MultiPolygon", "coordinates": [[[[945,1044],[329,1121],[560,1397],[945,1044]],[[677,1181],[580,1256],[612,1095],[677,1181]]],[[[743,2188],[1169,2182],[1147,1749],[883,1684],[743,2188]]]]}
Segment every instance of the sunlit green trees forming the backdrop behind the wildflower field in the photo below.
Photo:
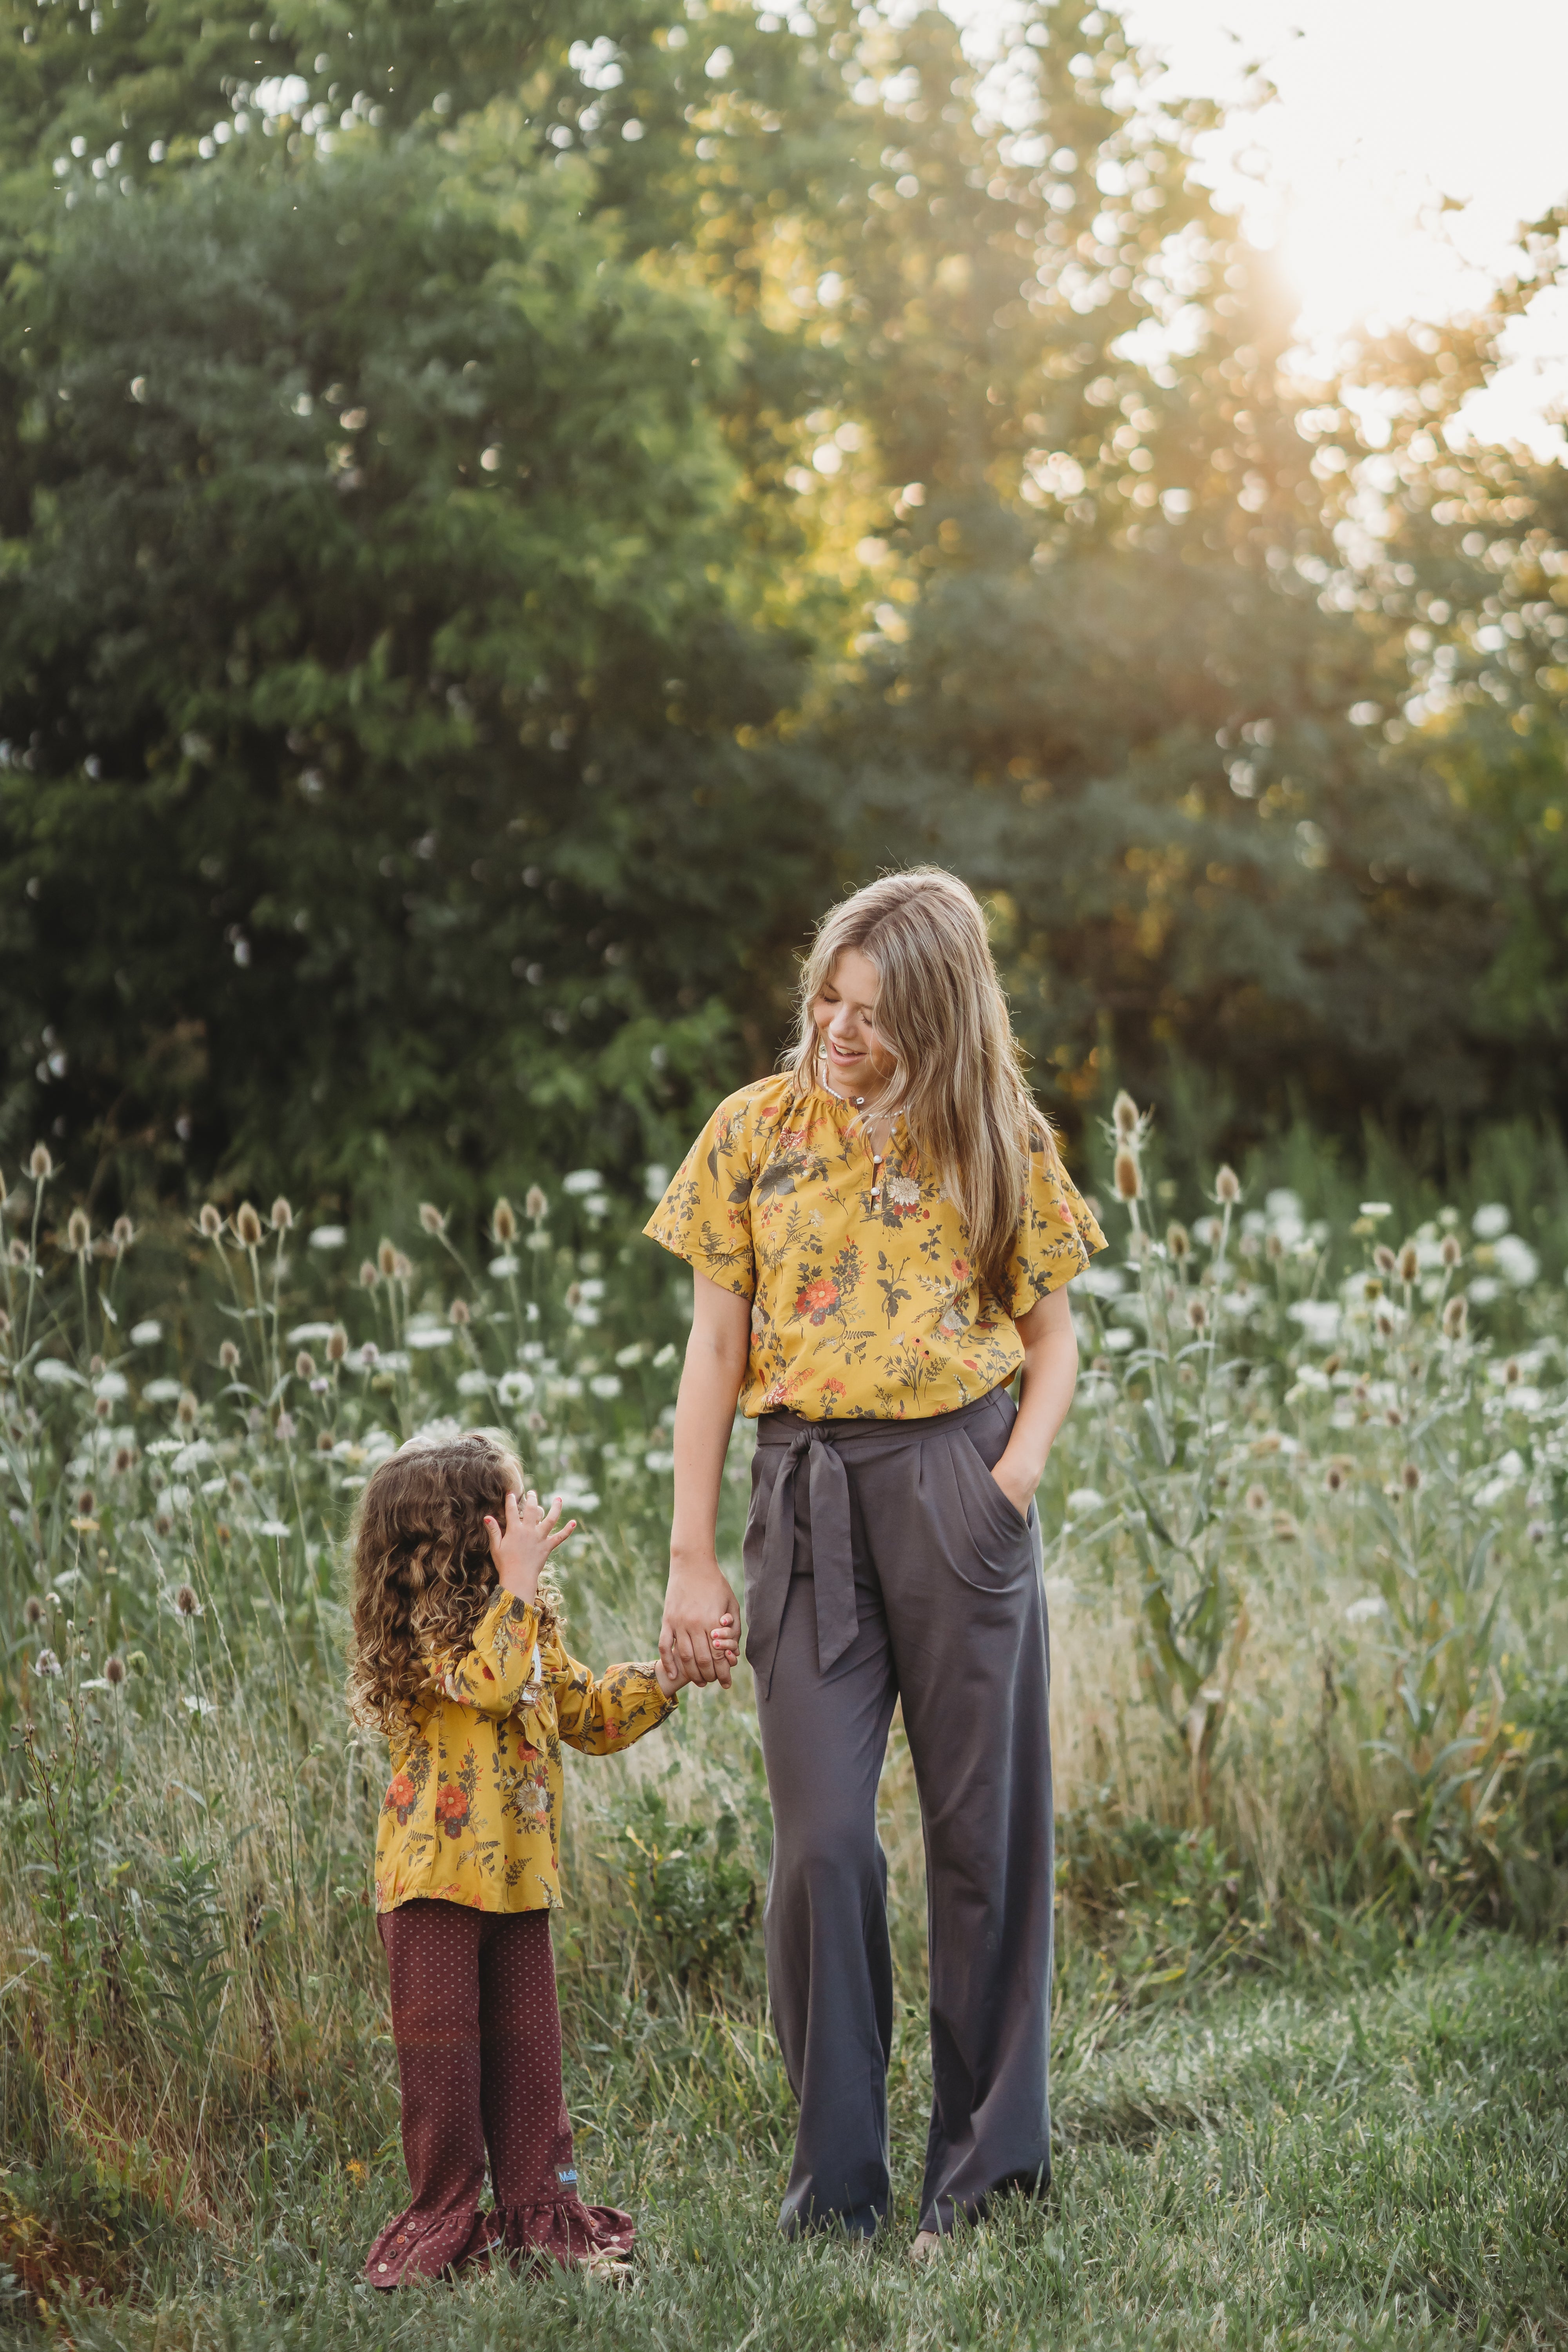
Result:
{"type": "Polygon", "coordinates": [[[1077,0],[1006,122],[837,0],[12,28],[12,1134],[668,1157],[910,856],[1070,1120],[1173,1054],[1234,1141],[1540,1103],[1561,489],[1432,456],[1523,282],[1305,386],[1077,0]]]}

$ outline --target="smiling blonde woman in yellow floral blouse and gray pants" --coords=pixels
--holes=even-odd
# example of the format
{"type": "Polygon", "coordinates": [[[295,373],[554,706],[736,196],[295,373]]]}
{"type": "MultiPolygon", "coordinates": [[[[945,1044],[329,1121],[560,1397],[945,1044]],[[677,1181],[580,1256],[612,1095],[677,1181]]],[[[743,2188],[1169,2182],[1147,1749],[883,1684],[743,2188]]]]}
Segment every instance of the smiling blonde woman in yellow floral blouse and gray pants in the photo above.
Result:
{"type": "Polygon", "coordinates": [[[799,2098],[780,2218],[870,2234],[889,2209],[877,1778],[900,1700],[931,1938],[924,2256],[1051,2171],[1034,1486],[1077,1381],[1065,1284],[1105,1237],[1027,1094],[961,882],[917,868],[835,908],[799,1002],[788,1070],[719,1103],[646,1225],[696,1277],[661,1656],[729,1682],[708,1628],[733,1609],[715,1522],[741,1402],[769,1994],[799,2098]]]}

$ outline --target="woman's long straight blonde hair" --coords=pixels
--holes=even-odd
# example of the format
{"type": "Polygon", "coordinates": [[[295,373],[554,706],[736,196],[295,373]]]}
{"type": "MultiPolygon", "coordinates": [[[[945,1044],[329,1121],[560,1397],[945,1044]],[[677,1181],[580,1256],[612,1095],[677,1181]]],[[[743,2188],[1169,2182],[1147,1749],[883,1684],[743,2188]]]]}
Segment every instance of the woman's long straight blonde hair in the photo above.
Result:
{"type": "Polygon", "coordinates": [[[799,976],[802,1091],[820,1084],[813,1007],[846,948],[877,967],[877,1035],[896,1061],[886,1098],[957,1204],[985,1287],[1011,1305],[1030,1155],[1056,1164],[1056,1141],[1023,1075],[980,903],[943,866],[912,866],[823,915],[799,976]]]}

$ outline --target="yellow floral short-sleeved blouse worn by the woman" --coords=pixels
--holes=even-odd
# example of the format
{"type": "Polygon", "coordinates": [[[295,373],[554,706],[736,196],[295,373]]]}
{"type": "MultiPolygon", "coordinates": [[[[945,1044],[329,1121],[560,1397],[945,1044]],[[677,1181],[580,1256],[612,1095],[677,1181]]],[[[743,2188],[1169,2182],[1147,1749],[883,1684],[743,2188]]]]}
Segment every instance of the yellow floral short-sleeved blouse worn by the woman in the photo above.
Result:
{"type": "Polygon", "coordinates": [[[806,1421],[952,1414],[1023,1364],[1013,1315],[1079,1275],[1105,1235],[1044,1152],[992,1298],[969,1230],[898,1122],[875,1169],[860,1117],[764,1077],[715,1110],[644,1225],[752,1303],[743,1414],[806,1421]]]}

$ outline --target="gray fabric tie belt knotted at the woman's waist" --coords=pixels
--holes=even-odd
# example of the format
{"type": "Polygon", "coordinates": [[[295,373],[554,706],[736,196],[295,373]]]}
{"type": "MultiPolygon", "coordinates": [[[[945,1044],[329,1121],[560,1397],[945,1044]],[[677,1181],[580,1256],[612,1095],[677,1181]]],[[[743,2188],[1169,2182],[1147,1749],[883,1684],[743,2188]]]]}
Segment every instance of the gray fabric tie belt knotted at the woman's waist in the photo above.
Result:
{"type": "MultiPolygon", "coordinates": [[[[799,1414],[762,1414],[757,1446],[788,1446],[778,1465],[762,1534],[762,1562],[745,1592],[745,1656],[762,1691],[773,1679],[773,1653],[795,1571],[795,1479],[806,1461],[811,1505],[811,1576],[816,1581],[816,1663],[827,1672],[860,1630],[856,1609],[856,1555],[849,1526],[849,1472],[842,1446],[856,1454],[891,1454],[961,1428],[978,1414],[997,1411],[997,1390],[926,1421],[804,1421],[799,1414]]],[[[752,1529],[748,1529],[748,1538],[752,1529]]],[[[752,1550],[748,1541],[748,1552],[752,1550]]]]}

